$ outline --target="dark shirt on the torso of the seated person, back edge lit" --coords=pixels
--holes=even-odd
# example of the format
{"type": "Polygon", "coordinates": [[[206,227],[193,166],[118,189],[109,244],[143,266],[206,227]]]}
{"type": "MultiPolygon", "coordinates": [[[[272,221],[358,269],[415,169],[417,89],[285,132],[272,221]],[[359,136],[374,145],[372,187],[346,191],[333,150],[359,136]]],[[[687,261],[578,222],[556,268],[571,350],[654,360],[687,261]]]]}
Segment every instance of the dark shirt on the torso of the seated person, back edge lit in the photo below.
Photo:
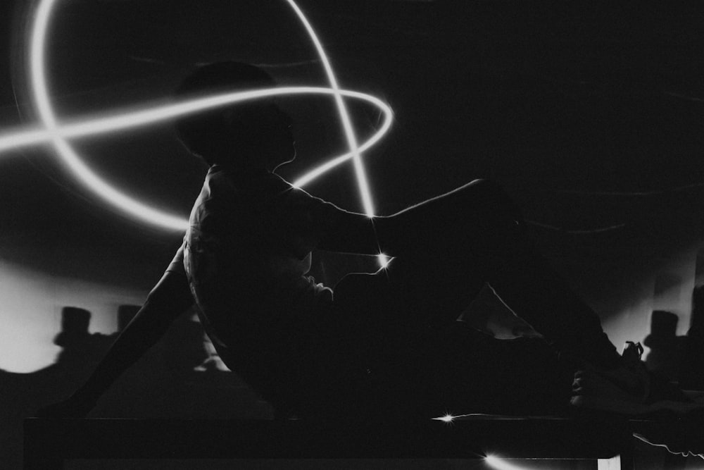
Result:
{"type": "Polygon", "coordinates": [[[275,174],[220,166],[191,211],[183,262],[203,326],[225,363],[270,400],[296,380],[315,316],[332,304],[308,271],[341,213],[275,174]]]}

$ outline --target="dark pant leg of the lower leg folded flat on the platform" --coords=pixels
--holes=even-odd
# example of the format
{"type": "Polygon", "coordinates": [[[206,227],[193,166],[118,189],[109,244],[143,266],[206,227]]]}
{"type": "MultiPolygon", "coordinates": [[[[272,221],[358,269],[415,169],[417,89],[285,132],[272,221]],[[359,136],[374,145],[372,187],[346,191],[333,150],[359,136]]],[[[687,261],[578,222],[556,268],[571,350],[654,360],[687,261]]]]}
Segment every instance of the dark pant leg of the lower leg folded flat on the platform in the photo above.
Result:
{"type": "Polygon", "coordinates": [[[350,276],[344,284],[336,299],[344,319],[329,357],[353,352],[347,363],[360,361],[367,375],[340,388],[330,409],[432,418],[551,414],[569,403],[574,371],[543,340],[496,340],[460,321],[409,321],[384,278],[350,276]]]}

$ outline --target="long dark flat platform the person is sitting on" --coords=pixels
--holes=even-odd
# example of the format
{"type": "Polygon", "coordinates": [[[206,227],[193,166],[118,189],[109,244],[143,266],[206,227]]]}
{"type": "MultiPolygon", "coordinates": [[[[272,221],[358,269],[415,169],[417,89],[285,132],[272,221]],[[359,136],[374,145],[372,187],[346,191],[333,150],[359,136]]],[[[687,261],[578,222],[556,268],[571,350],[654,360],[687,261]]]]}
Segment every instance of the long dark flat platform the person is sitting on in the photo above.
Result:
{"type": "Polygon", "coordinates": [[[633,468],[628,421],[471,415],[451,423],[171,419],[25,420],[25,469],[65,459],[598,459],[633,468]]]}

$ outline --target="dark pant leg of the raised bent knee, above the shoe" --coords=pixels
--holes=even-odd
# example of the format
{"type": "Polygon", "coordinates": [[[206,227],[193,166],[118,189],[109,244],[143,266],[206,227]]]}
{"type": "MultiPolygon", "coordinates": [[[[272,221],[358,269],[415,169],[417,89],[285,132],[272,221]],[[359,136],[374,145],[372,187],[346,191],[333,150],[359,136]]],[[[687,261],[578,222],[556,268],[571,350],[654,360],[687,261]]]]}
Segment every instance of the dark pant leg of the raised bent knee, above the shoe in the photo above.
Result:
{"type": "Polygon", "coordinates": [[[488,281],[558,349],[601,366],[619,364],[596,313],[536,252],[519,209],[498,185],[473,181],[380,219],[377,233],[382,246],[389,240],[401,258],[417,259],[420,269],[425,262],[444,266],[460,283],[455,287],[463,276],[472,288],[477,278],[488,281]]]}

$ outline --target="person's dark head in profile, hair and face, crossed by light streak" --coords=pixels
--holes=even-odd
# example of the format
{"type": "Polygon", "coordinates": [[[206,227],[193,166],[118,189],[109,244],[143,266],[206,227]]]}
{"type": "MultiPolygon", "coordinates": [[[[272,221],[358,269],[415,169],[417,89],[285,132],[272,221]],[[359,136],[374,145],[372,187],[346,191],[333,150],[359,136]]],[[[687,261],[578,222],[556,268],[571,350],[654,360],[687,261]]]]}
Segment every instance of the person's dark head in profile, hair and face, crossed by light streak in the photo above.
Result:
{"type": "MultiPolygon", "coordinates": [[[[268,73],[246,63],[218,62],[197,68],[176,89],[179,99],[275,87],[268,73]]],[[[184,116],[180,140],[208,165],[272,171],[296,156],[291,120],[273,98],[184,116]]]]}

